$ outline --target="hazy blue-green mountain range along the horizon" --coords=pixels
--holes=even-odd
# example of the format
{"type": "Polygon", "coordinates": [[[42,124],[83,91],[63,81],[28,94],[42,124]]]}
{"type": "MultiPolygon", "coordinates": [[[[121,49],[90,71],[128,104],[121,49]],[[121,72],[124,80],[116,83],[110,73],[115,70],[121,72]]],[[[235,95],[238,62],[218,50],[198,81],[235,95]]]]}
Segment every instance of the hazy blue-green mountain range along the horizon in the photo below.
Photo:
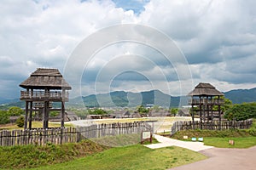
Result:
{"type": "MultiPolygon", "coordinates": [[[[225,98],[230,99],[233,104],[256,101],[256,88],[237,89],[224,93],[225,98]]],[[[178,107],[188,105],[188,97],[171,96],[160,90],[151,90],[141,93],[125,91],[114,91],[107,94],[91,94],[70,99],[67,107],[135,107],[137,105],[160,105],[163,107],[178,107]]],[[[54,104],[59,106],[59,104],[54,104]]],[[[20,99],[0,99],[0,109],[10,106],[25,107],[20,99]]]]}

